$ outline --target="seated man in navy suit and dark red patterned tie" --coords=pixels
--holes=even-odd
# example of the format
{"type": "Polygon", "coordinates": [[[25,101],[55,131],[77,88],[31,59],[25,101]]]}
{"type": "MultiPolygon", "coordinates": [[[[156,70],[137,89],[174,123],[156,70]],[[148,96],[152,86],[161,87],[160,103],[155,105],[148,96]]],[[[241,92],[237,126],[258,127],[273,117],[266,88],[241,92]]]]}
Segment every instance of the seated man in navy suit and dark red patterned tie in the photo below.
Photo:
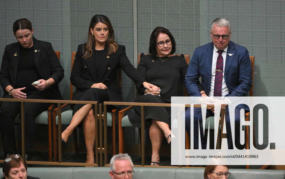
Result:
{"type": "MultiPolygon", "coordinates": [[[[185,86],[190,96],[246,96],[251,89],[251,61],[245,47],[230,41],[231,24],[225,18],[217,18],[210,30],[211,43],[195,49],[187,74],[185,86]],[[204,91],[199,90],[199,77],[204,91]]],[[[228,148],[243,147],[239,141],[240,110],[249,110],[246,105],[235,108],[235,139],[232,139],[229,108],[226,107],[226,130],[228,148]],[[238,145],[238,146],[237,146],[238,145]]],[[[206,117],[214,116],[214,108],[207,108],[206,117]]],[[[190,108],[185,111],[186,130],[190,135],[190,108]]],[[[206,149],[207,138],[203,134],[201,108],[194,108],[194,149],[198,149],[200,126],[201,147],[206,149]],[[199,126],[198,126],[199,125],[199,126]],[[196,142],[195,142],[196,141],[196,142]]],[[[212,146],[214,147],[214,146],[212,146]]],[[[211,146],[210,146],[211,148],[211,146]]]]}

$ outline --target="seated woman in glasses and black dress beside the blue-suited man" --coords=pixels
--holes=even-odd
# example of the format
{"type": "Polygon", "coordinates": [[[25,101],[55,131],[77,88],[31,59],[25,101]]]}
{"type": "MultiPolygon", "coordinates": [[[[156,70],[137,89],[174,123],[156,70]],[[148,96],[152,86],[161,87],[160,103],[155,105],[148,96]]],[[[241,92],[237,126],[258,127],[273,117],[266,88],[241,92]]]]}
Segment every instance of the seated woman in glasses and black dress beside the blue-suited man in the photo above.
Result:
{"type": "MultiPolygon", "coordinates": [[[[184,55],[174,55],[176,43],[173,35],[164,27],[156,27],[149,41],[149,55],[141,53],[138,70],[144,79],[160,88],[160,92],[145,89],[138,92],[135,102],[170,103],[171,96],[184,96],[184,77],[188,64],[184,55]],[[146,94],[146,95],[145,95],[146,94]]],[[[200,84],[201,86],[201,84],[200,84]]],[[[141,110],[134,107],[135,112],[129,114],[130,122],[141,127],[141,110]]],[[[170,107],[145,106],[145,124],[149,126],[152,145],[151,165],[160,165],[159,150],[162,138],[168,144],[174,137],[170,130],[170,107]]]]}

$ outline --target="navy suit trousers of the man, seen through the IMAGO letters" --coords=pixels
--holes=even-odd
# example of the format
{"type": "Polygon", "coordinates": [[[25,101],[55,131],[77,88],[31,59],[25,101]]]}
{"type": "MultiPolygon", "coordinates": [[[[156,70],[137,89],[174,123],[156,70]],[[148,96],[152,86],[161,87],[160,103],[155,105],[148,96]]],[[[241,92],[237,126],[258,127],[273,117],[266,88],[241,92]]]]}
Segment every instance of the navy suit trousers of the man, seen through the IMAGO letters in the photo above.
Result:
{"type": "MultiPolygon", "coordinates": [[[[239,108],[235,108],[235,131],[236,130],[240,130],[240,113],[239,113],[240,109],[239,108]]],[[[186,128],[186,131],[188,133],[188,135],[190,136],[191,135],[191,132],[190,132],[190,108],[187,108],[185,110],[185,128],[186,128]]],[[[206,110],[206,118],[207,117],[210,117],[210,116],[214,116],[214,113],[211,112],[211,110],[206,110]]],[[[230,119],[229,119],[229,107],[227,106],[226,107],[226,119],[225,119],[225,123],[226,123],[226,131],[227,131],[227,142],[228,142],[228,148],[229,149],[233,149],[233,140],[235,139],[232,139],[232,132],[234,132],[233,130],[230,130],[231,129],[231,122],[230,122],[230,119]]],[[[194,148],[198,148],[198,135],[199,135],[199,132],[198,132],[198,128],[199,128],[199,124],[202,124],[202,112],[201,112],[201,108],[194,108],[194,144],[196,144],[196,146],[194,146],[194,148]],[[199,119],[199,121],[198,121],[199,119]]],[[[204,127],[204,126],[203,126],[204,127]]],[[[201,137],[201,146],[202,147],[199,147],[199,148],[206,148],[206,139],[203,138],[203,127],[200,126],[200,137],[201,137]]],[[[209,135],[209,132],[208,132],[208,135],[209,135]]],[[[239,140],[239,136],[235,136],[236,140],[239,140]]],[[[208,142],[209,143],[209,142],[208,142]]]]}

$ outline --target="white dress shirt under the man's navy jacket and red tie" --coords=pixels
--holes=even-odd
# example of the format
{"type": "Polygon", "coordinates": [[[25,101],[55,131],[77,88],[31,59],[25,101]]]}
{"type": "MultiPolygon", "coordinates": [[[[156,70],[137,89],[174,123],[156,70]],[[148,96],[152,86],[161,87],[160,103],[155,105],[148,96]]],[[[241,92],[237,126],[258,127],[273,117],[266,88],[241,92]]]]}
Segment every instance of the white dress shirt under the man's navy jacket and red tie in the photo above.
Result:
{"type": "MultiPolygon", "coordinates": [[[[226,86],[224,73],[225,73],[225,64],[226,64],[226,57],[227,57],[227,49],[226,47],[222,53],[223,56],[223,82],[222,82],[222,96],[225,96],[226,94],[229,94],[229,89],[226,86]]],[[[217,58],[219,56],[219,53],[217,52],[218,49],[214,45],[213,50],[213,59],[212,59],[212,73],[211,73],[211,89],[209,92],[209,96],[214,96],[214,86],[215,86],[215,76],[216,76],[216,65],[217,65],[217,58]]]]}

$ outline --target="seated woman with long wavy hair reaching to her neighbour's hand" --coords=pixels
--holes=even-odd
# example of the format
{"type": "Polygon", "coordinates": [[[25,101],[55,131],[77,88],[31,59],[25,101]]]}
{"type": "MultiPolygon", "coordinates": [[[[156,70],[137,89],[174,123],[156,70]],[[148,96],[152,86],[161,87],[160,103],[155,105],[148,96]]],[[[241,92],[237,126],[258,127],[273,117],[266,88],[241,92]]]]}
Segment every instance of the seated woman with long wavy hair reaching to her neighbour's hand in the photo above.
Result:
{"type": "MultiPolygon", "coordinates": [[[[95,15],[88,29],[87,43],[78,46],[70,81],[77,90],[72,100],[122,101],[118,87],[118,68],[130,77],[137,88],[158,91],[157,87],[145,82],[137,69],[130,63],[125,46],[114,40],[114,30],[108,17],[95,15]]],[[[62,141],[67,142],[72,131],[82,122],[87,149],[86,163],[94,163],[95,119],[91,104],[74,104],[70,125],[62,132],[62,141]]]]}

